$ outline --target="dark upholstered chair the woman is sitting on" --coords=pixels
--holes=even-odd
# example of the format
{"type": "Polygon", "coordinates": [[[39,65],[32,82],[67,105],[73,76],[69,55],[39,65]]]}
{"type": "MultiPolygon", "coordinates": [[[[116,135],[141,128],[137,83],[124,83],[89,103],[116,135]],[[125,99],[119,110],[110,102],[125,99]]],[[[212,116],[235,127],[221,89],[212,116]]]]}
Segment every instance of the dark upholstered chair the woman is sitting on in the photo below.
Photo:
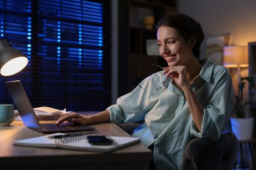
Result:
{"type": "MultiPolygon", "coordinates": [[[[131,134],[139,125],[129,123],[120,124],[119,127],[131,134]]],[[[184,150],[181,169],[229,170],[234,167],[237,151],[238,139],[231,131],[223,131],[216,142],[199,138],[192,139],[184,150]]]]}

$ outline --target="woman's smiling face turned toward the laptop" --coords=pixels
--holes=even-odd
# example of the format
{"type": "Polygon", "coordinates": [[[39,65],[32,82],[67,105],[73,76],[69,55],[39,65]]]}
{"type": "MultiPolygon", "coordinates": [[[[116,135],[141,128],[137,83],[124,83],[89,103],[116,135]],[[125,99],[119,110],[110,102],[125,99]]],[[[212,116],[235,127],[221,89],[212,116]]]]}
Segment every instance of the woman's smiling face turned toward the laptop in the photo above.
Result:
{"type": "Polygon", "coordinates": [[[185,65],[194,55],[193,43],[184,41],[184,38],[173,27],[161,26],[158,28],[158,46],[161,56],[169,66],[185,65]]]}

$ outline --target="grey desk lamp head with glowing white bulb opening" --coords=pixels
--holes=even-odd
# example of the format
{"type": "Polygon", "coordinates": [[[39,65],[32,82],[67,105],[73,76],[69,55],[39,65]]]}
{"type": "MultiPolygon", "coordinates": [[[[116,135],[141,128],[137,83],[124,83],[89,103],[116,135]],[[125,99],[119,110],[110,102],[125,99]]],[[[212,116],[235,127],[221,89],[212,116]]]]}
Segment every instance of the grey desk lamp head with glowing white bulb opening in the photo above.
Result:
{"type": "Polygon", "coordinates": [[[26,58],[19,50],[11,48],[5,39],[0,40],[0,73],[11,76],[20,72],[28,64],[26,58]]]}

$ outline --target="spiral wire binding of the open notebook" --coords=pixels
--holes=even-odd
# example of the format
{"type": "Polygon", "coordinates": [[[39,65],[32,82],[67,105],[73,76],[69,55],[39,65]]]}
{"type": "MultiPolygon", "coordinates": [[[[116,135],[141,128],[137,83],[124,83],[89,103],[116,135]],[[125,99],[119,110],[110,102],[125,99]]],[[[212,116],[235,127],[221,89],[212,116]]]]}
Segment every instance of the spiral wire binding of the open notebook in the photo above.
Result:
{"type": "Polygon", "coordinates": [[[80,141],[83,139],[87,139],[87,136],[97,136],[99,135],[98,131],[86,131],[83,133],[74,133],[70,135],[66,135],[60,139],[56,139],[55,143],[72,143],[74,141],[80,141]]]}

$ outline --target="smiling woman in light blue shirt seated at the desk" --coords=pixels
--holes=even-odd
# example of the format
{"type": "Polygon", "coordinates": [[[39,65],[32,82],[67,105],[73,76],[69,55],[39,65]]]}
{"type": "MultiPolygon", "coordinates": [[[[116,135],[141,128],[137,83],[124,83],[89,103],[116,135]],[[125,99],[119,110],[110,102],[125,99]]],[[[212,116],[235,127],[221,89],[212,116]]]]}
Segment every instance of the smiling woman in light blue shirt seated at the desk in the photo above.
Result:
{"type": "Polygon", "coordinates": [[[135,122],[133,131],[153,149],[156,169],[181,169],[183,151],[194,137],[217,141],[232,112],[230,73],[211,59],[200,59],[204,35],[198,22],[184,14],[169,14],[156,25],[161,56],[168,67],[145,78],[116,105],[88,116],[63,116],[77,124],[135,122]]]}

